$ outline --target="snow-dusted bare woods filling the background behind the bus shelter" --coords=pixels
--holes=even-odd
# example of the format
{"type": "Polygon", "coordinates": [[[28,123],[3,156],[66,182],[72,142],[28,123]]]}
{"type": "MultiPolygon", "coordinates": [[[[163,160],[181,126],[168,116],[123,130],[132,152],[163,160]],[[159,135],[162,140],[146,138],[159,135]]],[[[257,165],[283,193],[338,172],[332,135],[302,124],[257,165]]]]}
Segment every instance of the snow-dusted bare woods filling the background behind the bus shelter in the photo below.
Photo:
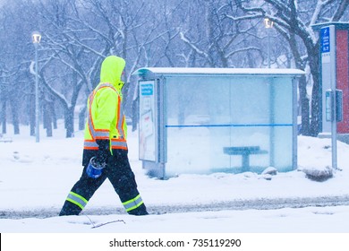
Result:
{"type": "MultiPolygon", "coordinates": [[[[348,1],[343,0],[7,2],[0,7],[3,131],[7,120],[15,125],[16,133],[18,124],[24,122],[34,134],[36,73],[30,67],[34,57],[30,34],[39,30],[43,35],[38,49],[43,124],[51,135],[56,117],[64,117],[67,137],[73,135],[78,105],[80,129],[83,127],[86,100],[99,82],[99,65],[105,56],[126,60],[123,80],[129,84],[125,85],[124,103],[129,112],[135,91],[132,72],[142,66],[265,67],[263,47],[268,37],[261,25],[265,17],[275,22],[273,65],[310,69],[311,77],[300,82],[302,133],[315,135],[319,131],[319,43],[311,25],[343,19],[348,9],[348,1]],[[307,93],[310,80],[314,82],[312,95],[307,93]]],[[[179,117],[185,113],[185,102],[179,100],[183,104],[179,117]]]]}

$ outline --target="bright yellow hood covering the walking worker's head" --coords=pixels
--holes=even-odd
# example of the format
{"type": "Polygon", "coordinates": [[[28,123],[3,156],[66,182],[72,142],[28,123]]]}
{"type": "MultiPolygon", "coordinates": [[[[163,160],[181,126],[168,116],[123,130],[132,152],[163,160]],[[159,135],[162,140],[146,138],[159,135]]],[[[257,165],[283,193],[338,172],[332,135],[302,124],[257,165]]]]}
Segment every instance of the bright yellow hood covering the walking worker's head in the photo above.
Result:
{"type": "Polygon", "coordinates": [[[125,61],[122,57],[106,56],[100,68],[100,82],[110,82],[116,90],[121,91],[123,88],[121,75],[123,74],[124,66],[125,61]]]}

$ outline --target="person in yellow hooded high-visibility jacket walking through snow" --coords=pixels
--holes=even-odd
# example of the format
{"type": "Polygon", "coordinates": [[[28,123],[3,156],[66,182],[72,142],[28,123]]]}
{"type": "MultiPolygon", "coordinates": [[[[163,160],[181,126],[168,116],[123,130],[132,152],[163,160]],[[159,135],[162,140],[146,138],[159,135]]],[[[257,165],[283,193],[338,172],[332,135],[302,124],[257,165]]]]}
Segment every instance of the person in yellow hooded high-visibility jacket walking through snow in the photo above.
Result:
{"type": "Polygon", "coordinates": [[[100,82],[88,99],[89,115],[84,131],[82,174],[72,186],[63,215],[78,215],[108,178],[119,195],[126,212],[148,214],[140,197],[128,159],[127,125],[123,114],[123,82],[125,61],[107,56],[100,69],[100,82]]]}

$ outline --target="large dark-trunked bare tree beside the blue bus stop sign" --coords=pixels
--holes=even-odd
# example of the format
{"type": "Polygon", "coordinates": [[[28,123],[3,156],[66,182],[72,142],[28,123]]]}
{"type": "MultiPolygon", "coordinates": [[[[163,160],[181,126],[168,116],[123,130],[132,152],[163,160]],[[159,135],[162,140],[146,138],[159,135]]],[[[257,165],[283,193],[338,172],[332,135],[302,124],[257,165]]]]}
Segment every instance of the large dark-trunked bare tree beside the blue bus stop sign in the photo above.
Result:
{"type": "MultiPolygon", "coordinates": [[[[245,13],[239,20],[268,18],[275,22],[276,29],[290,44],[296,66],[304,70],[310,67],[312,77],[311,123],[308,127],[309,107],[304,79],[301,81],[302,100],[302,134],[315,136],[320,128],[320,95],[319,95],[319,40],[311,26],[317,22],[339,21],[345,13],[347,0],[321,1],[242,1],[235,0],[245,13]],[[263,3],[264,2],[264,3],[263,3]],[[301,44],[302,43],[302,44],[301,44]],[[304,48],[304,50],[302,50],[304,48]]],[[[236,19],[235,19],[236,20],[236,19]]]]}

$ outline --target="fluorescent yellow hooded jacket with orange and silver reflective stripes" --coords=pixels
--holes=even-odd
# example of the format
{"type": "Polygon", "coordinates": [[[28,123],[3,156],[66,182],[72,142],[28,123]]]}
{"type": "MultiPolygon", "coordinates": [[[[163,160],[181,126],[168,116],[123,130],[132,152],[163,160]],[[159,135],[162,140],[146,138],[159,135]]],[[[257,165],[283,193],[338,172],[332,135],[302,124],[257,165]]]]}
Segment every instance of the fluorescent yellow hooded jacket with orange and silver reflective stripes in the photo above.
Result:
{"type": "Polygon", "coordinates": [[[124,66],[125,61],[118,56],[107,56],[102,63],[100,82],[88,99],[89,117],[84,132],[84,155],[87,153],[85,151],[98,150],[96,140],[110,140],[109,149],[112,154],[113,149],[127,150],[127,125],[121,91],[124,66]]]}

